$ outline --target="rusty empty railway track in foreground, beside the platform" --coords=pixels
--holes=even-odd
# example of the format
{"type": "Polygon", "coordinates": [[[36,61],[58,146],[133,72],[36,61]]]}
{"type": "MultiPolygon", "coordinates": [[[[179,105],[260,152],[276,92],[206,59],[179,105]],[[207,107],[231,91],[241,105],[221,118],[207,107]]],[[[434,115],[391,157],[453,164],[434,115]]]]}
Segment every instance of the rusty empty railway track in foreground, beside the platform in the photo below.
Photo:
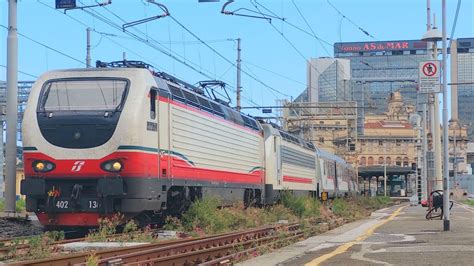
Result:
{"type": "MultiPolygon", "coordinates": [[[[303,238],[300,224],[266,226],[240,232],[179,239],[94,252],[98,265],[213,265],[250,254],[260,247],[303,238]],[[210,263],[210,264],[209,264],[210,263]]],[[[87,265],[89,252],[17,262],[12,265],[87,265]]]]}

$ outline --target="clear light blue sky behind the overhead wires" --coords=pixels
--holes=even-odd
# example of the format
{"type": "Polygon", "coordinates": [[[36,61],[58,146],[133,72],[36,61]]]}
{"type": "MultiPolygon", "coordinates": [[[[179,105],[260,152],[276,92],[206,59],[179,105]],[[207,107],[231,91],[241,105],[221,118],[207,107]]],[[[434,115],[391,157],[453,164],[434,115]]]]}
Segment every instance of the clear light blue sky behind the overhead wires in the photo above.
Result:
{"type": "MultiPolygon", "coordinates": [[[[95,4],[94,0],[77,2],[95,4]]],[[[120,28],[126,22],[163,13],[145,0],[113,0],[106,7],[66,13],[55,10],[53,0],[19,0],[19,80],[34,80],[54,69],[85,67],[86,28],[90,27],[93,64],[96,60],[122,60],[125,52],[128,60],[145,61],[191,84],[223,80],[234,98],[236,68],[231,63],[235,63],[237,55],[235,39],[241,38],[242,106],[275,105],[276,100],[294,98],[305,89],[306,60],[333,56],[334,42],[414,40],[426,31],[426,0],[237,0],[227,6],[229,11],[242,8],[241,14],[259,16],[254,6],[257,3],[260,12],[275,17],[271,23],[223,15],[220,11],[225,0],[157,2],[165,5],[171,16],[127,28],[127,32],[142,39],[138,41],[120,28]],[[108,24],[99,17],[105,17],[108,24]],[[320,40],[308,32],[314,32],[320,40]]],[[[447,0],[448,36],[457,3],[458,0],[447,0]]],[[[431,10],[441,27],[441,0],[431,0],[431,10]]],[[[473,15],[474,0],[462,0],[455,38],[474,37],[473,15]]],[[[8,1],[2,0],[0,80],[6,79],[7,25],[8,1]]]]}

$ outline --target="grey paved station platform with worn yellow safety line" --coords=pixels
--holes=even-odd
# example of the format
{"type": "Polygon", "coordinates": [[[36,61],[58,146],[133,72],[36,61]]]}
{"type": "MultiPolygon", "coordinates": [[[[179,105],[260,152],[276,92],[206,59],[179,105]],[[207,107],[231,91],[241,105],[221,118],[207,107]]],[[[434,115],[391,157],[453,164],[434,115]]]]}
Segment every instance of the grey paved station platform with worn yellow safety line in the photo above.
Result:
{"type": "Polygon", "coordinates": [[[404,203],[241,265],[473,265],[474,208],[456,203],[451,230],[404,203]]]}

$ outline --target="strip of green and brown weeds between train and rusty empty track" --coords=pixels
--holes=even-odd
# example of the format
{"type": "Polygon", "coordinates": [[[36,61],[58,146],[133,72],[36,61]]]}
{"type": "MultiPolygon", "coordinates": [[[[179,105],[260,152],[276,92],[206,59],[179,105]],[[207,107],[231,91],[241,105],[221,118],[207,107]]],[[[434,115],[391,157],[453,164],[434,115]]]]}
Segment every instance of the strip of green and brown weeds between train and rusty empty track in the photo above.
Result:
{"type": "Polygon", "coordinates": [[[354,197],[334,199],[328,204],[321,204],[314,198],[295,197],[284,193],[281,204],[270,207],[245,208],[240,204],[220,208],[220,201],[210,198],[194,202],[180,218],[168,217],[165,229],[205,235],[273,224],[279,220],[305,223],[308,219],[325,221],[343,218],[353,221],[391,203],[388,197],[354,197]]]}

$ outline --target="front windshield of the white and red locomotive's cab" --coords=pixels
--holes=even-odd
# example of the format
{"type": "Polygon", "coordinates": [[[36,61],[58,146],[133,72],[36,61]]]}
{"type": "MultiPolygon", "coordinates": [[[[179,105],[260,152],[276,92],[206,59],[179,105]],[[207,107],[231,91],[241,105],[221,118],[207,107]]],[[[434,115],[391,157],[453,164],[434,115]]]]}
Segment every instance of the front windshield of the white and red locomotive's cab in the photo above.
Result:
{"type": "Polygon", "coordinates": [[[43,87],[40,110],[114,111],[123,106],[128,81],[123,79],[64,79],[43,87]]]}

